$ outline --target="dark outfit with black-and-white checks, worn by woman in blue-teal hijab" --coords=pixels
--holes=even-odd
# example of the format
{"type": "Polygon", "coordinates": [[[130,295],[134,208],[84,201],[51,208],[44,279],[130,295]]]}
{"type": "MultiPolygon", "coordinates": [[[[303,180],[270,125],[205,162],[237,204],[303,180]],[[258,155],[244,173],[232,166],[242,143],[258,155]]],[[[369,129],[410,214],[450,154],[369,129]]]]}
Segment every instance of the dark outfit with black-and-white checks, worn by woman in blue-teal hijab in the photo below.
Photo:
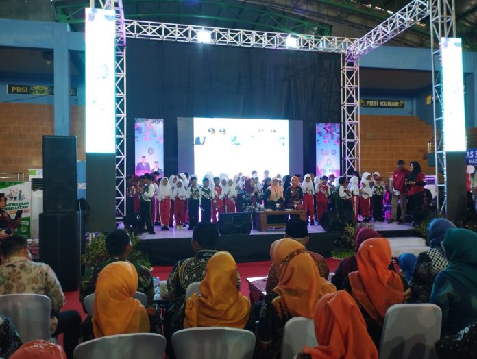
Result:
{"type": "Polygon", "coordinates": [[[432,284],[434,284],[436,275],[447,265],[448,260],[436,248],[420,253],[417,256],[411,280],[411,301],[429,303],[432,284]]]}

